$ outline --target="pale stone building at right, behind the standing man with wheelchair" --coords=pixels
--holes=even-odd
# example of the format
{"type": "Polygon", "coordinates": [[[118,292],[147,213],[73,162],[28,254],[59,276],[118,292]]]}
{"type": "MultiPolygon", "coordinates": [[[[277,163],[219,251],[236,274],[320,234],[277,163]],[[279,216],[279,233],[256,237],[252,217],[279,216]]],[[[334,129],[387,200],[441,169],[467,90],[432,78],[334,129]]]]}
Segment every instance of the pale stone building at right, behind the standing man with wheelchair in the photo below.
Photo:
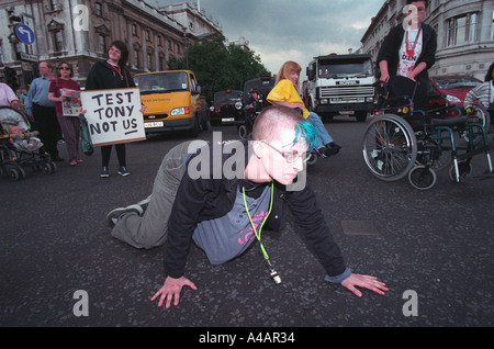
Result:
{"type": "MultiPolygon", "coordinates": [[[[386,0],[361,38],[374,59],[390,29],[403,23],[405,0],[386,0]]],[[[430,0],[425,22],[438,34],[430,76],[470,75],[483,80],[494,61],[494,1],[430,0]]]]}

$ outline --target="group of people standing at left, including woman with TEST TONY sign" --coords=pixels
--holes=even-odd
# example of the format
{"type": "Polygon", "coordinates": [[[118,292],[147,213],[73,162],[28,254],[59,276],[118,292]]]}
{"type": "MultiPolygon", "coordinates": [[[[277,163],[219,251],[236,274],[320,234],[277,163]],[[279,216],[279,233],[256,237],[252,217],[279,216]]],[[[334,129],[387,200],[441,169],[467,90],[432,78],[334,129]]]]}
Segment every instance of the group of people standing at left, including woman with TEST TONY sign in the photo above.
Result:
{"type": "MultiPolygon", "coordinates": [[[[119,89],[135,87],[131,72],[126,68],[128,49],[122,41],[110,45],[108,58],[96,63],[87,77],[86,90],[119,89]]],[[[69,156],[69,165],[77,166],[81,159],[81,125],[78,115],[65,114],[63,103],[70,97],[63,90],[79,91],[80,86],[72,80],[74,70],[67,61],[54,67],[49,61],[38,64],[40,77],[35,78],[29,89],[22,91],[20,98],[7,85],[0,83],[0,105],[21,109],[29,116],[31,128],[40,132],[44,149],[53,161],[64,161],[59,156],[58,145],[65,143],[69,156]]],[[[144,106],[141,110],[144,111],[144,106]]],[[[85,111],[82,110],[82,113],[85,111]]],[[[112,145],[101,147],[101,178],[110,177],[109,164],[112,145]]],[[[119,160],[117,173],[131,174],[126,166],[125,144],[115,145],[119,160]]]]}

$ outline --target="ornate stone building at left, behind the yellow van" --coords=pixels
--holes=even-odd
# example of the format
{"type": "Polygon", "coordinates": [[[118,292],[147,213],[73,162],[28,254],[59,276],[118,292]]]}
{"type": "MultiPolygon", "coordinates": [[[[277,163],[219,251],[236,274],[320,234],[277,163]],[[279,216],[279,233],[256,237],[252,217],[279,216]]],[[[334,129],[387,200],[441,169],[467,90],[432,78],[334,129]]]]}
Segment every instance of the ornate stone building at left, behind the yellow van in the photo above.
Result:
{"type": "Polygon", "coordinates": [[[15,69],[19,85],[37,76],[37,63],[66,60],[85,86],[91,66],[106,57],[114,40],[127,44],[133,74],[166,70],[187,45],[222,34],[217,23],[187,2],[155,8],[143,0],[2,0],[0,3],[0,78],[15,69]],[[35,35],[24,44],[14,33],[20,23],[35,35]],[[3,68],[3,69],[2,69],[3,68]]]}

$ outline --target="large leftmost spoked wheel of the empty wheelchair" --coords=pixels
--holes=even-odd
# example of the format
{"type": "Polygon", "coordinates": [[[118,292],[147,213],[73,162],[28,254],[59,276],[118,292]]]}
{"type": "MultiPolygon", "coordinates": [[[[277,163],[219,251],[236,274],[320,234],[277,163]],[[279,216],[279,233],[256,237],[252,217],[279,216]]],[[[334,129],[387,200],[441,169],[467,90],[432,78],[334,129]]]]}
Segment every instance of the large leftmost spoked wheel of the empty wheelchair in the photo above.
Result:
{"type": "Polygon", "coordinates": [[[384,181],[396,181],[414,167],[417,139],[404,119],[383,114],[369,124],[363,136],[362,151],[372,174],[384,181]]]}

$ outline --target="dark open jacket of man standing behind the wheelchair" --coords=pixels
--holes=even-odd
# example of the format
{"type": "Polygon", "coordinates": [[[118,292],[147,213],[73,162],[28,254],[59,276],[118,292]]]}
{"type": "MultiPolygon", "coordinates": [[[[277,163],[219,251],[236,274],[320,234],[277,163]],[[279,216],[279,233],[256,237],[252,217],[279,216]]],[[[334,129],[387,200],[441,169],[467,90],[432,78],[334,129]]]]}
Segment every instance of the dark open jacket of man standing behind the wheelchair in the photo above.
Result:
{"type": "MultiPolygon", "coordinates": [[[[437,49],[437,34],[436,31],[428,24],[422,23],[423,30],[423,45],[422,53],[418,57],[415,66],[420,61],[427,64],[427,68],[424,69],[417,77],[416,80],[420,83],[428,83],[428,69],[436,63],[436,49],[437,49]]],[[[405,35],[405,30],[403,25],[396,25],[384,38],[381,45],[381,49],[378,54],[378,67],[381,60],[388,61],[388,70],[390,76],[395,76],[397,71],[397,66],[400,63],[400,47],[403,43],[403,36],[405,35]]]]}

